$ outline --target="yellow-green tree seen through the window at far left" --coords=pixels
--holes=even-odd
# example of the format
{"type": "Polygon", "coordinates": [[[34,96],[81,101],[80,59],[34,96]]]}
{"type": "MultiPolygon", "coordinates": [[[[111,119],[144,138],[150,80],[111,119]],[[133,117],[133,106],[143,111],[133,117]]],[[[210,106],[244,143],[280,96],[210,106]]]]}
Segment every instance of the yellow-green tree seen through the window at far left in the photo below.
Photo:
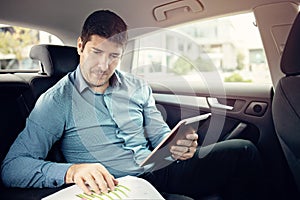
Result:
{"type": "Polygon", "coordinates": [[[38,43],[38,32],[21,27],[13,27],[13,31],[0,32],[0,52],[14,54],[21,64],[23,49],[38,43]]]}

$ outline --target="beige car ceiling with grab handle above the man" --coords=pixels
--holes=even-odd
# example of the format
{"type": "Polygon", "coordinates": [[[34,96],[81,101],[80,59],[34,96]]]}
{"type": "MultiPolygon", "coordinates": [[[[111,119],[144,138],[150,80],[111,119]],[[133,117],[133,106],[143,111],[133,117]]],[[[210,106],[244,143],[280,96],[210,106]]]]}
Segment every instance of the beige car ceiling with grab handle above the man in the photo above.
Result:
{"type": "MultiPolygon", "coordinates": [[[[171,6],[169,11],[163,13],[166,20],[158,21],[154,16],[156,8],[174,2],[181,3],[181,0],[2,0],[0,23],[41,29],[57,35],[65,44],[74,45],[84,19],[92,11],[98,9],[115,11],[125,19],[129,29],[136,29],[170,27],[196,19],[246,12],[260,5],[282,2],[282,0],[184,1],[196,2],[202,10],[189,12],[191,10],[186,7],[172,9],[171,6]]],[[[299,0],[296,1],[299,2],[299,0]]]]}

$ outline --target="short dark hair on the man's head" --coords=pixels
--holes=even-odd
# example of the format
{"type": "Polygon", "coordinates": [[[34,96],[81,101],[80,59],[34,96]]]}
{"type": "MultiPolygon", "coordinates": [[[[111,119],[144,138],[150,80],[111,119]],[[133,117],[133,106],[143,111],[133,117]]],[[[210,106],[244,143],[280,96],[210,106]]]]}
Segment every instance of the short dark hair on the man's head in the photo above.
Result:
{"type": "Polygon", "coordinates": [[[83,24],[83,48],[92,35],[99,35],[125,47],[128,40],[127,25],[117,14],[109,10],[98,10],[90,14],[83,24]]]}

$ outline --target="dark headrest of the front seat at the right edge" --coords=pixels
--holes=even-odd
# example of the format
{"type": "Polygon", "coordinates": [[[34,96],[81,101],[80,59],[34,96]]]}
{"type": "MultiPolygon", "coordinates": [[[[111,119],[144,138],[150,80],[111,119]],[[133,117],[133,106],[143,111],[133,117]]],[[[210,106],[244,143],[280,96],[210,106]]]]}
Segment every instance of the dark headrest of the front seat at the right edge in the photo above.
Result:
{"type": "Polygon", "coordinates": [[[286,75],[300,74],[300,13],[296,17],[287,38],[280,63],[286,75]]]}

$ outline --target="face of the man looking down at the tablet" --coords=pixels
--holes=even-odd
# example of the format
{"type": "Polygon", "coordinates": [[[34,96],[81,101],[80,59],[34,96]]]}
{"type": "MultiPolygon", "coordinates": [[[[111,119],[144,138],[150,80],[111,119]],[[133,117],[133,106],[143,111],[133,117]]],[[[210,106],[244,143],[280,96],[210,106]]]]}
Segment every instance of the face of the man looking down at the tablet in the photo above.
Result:
{"type": "Polygon", "coordinates": [[[104,92],[121,60],[123,47],[98,35],[92,35],[84,49],[82,46],[81,38],[78,38],[77,49],[83,78],[95,92],[104,92]]]}

